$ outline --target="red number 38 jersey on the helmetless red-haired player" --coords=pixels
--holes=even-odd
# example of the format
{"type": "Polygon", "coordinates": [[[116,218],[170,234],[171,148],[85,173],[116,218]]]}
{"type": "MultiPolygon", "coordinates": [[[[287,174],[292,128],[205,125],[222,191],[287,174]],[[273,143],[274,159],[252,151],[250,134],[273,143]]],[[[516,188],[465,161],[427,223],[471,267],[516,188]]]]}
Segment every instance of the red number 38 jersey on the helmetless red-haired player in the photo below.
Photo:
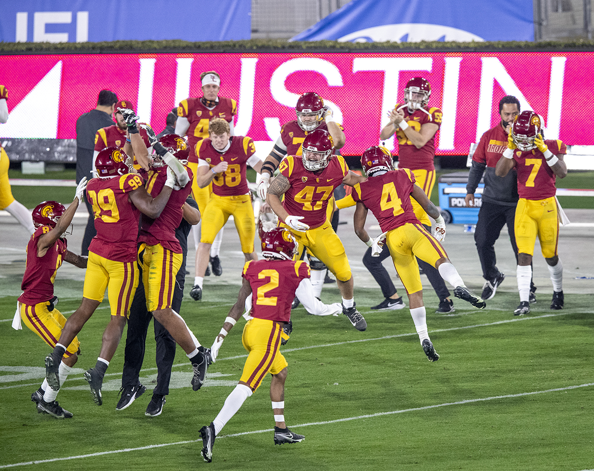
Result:
{"type": "Polygon", "coordinates": [[[225,153],[216,150],[208,137],[196,146],[197,159],[206,161],[210,168],[223,161],[229,164],[224,172],[215,175],[213,179],[213,192],[217,196],[238,196],[249,191],[245,171],[246,162],[256,151],[254,141],[247,136],[231,136],[230,143],[231,146],[225,153]]]}

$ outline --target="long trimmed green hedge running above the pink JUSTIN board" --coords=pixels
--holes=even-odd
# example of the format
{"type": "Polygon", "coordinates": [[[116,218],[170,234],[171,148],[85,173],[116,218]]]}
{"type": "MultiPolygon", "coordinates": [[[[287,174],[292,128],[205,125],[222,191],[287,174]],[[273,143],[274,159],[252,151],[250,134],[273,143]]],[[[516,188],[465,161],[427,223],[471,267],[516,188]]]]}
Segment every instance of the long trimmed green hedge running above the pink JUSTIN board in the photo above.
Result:
{"type": "Polygon", "coordinates": [[[496,42],[438,42],[416,43],[374,42],[350,43],[337,41],[295,41],[250,39],[241,41],[189,42],[112,41],[86,43],[8,43],[0,42],[0,54],[123,54],[123,53],[222,53],[222,52],[501,52],[501,51],[594,51],[594,40],[565,41],[496,41],[496,42]]]}

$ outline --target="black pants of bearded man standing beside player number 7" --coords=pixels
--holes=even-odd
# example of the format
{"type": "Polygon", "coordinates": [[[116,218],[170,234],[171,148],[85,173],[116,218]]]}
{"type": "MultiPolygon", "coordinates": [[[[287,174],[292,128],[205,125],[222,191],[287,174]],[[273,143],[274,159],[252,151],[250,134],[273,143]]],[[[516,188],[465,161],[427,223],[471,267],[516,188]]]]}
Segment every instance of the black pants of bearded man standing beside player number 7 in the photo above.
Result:
{"type": "Polygon", "coordinates": [[[479,209],[479,219],[476,222],[475,243],[485,280],[493,280],[499,273],[497,266],[495,266],[497,258],[495,257],[494,246],[505,224],[507,224],[511,248],[516,256],[517,263],[518,248],[516,246],[516,234],[514,233],[515,216],[515,205],[504,206],[485,201],[482,202],[481,209],[479,209]]]}

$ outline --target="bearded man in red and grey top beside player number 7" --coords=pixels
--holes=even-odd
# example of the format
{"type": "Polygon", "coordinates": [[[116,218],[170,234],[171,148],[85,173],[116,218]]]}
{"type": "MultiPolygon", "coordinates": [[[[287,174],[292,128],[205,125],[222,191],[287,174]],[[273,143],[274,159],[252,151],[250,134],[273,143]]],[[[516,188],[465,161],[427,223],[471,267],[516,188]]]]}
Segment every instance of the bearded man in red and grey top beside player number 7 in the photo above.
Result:
{"type": "MultiPolygon", "coordinates": [[[[486,131],[472,156],[472,167],[466,185],[466,206],[475,205],[475,191],[483,174],[485,174],[485,189],[482,194],[481,209],[476,222],[475,243],[479,253],[485,285],[482,299],[489,300],[495,296],[497,287],[503,282],[505,275],[499,271],[495,263],[495,241],[499,238],[501,229],[507,224],[510,235],[511,248],[514,250],[516,262],[518,249],[514,234],[514,216],[518,201],[516,170],[505,177],[495,175],[495,165],[507,149],[507,136],[511,124],[520,114],[520,102],[515,96],[507,95],[499,101],[501,121],[486,131]]],[[[530,282],[530,302],[536,302],[536,287],[530,282]]]]}

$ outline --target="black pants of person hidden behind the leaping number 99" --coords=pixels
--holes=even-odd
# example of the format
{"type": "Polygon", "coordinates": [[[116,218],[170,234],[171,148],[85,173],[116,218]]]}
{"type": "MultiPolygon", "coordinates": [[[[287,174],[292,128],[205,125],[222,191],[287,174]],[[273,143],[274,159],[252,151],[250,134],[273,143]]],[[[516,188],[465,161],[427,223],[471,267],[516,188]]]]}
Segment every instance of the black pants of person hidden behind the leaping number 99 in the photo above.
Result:
{"type": "MultiPolygon", "coordinates": [[[[175,287],[171,308],[179,313],[184,297],[185,279],[185,258],[178,274],[175,276],[175,287]]],[[[147,338],[147,331],[153,314],[147,311],[146,296],[142,276],[128,319],[128,334],[126,337],[126,348],[124,351],[124,371],[122,372],[122,387],[134,387],[140,377],[140,369],[143,366],[144,350],[147,338]]],[[[154,320],[154,340],[157,342],[157,385],[153,394],[169,394],[169,381],[171,379],[171,368],[175,359],[175,340],[157,319],[154,320]]]]}

